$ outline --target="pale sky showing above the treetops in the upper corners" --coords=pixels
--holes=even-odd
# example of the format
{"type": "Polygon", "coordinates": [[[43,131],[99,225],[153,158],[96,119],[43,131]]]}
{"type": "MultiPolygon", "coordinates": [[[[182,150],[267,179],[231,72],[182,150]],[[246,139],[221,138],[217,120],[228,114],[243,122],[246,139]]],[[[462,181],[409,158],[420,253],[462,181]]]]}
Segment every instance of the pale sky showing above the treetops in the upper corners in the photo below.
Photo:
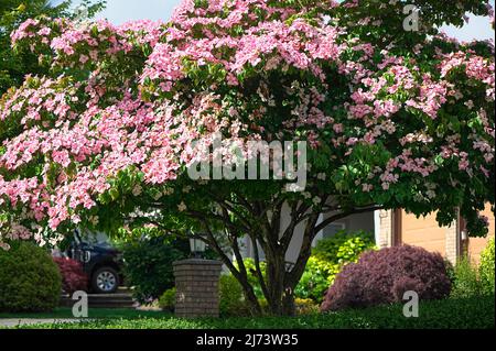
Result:
{"type": "MultiPolygon", "coordinates": [[[[54,0],[55,3],[60,1],[54,0]]],[[[77,2],[78,0],[75,1],[77,2]]],[[[107,0],[107,9],[99,13],[98,18],[108,19],[115,24],[143,19],[166,21],[180,2],[181,0],[107,0]]],[[[494,6],[494,0],[492,4],[494,6]]],[[[443,30],[460,41],[494,39],[488,18],[472,15],[464,28],[446,26],[443,30]]]]}

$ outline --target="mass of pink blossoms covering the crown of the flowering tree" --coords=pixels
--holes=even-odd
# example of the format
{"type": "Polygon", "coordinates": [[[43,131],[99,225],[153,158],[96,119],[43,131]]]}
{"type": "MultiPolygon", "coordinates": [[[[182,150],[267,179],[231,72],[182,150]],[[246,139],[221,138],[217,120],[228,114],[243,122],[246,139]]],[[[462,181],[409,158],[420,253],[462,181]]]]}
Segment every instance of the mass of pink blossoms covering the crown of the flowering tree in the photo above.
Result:
{"type": "MultiPolygon", "coordinates": [[[[459,52],[425,68],[309,20],[296,4],[206,3],[183,1],[168,24],[31,20],[12,34],[15,45],[51,50],[53,68],[78,74],[26,77],[0,102],[0,133],[9,135],[0,149],[0,213],[14,213],[12,235],[26,237],[31,221],[53,231],[96,223],[98,206],[139,202],[151,189],[153,200],[172,196],[162,187],[184,176],[216,133],[239,144],[305,140],[330,155],[327,176],[368,162],[353,180],[370,196],[405,178],[435,180],[439,156],[463,175],[490,176],[494,61],[459,52]],[[453,79],[457,67],[484,99],[453,79]],[[465,113],[461,127],[445,121],[453,110],[465,113]],[[115,188],[123,172],[141,184],[115,188]]],[[[219,154],[234,162],[229,149],[219,154]]],[[[183,201],[174,208],[187,210],[183,201]]]]}

